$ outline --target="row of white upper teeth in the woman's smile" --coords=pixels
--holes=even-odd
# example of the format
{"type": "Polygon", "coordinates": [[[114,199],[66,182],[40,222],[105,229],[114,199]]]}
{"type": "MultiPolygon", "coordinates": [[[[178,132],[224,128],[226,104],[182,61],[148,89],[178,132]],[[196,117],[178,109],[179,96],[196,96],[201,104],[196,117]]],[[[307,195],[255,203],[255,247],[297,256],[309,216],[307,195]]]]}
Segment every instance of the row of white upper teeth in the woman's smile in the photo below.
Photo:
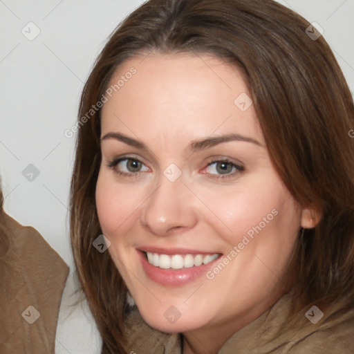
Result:
{"type": "Polygon", "coordinates": [[[210,263],[216,258],[218,258],[217,253],[207,255],[174,254],[173,256],[169,256],[167,254],[147,252],[147,260],[149,263],[162,269],[180,269],[183,267],[191,268],[194,265],[198,267],[199,265],[210,263]]]}

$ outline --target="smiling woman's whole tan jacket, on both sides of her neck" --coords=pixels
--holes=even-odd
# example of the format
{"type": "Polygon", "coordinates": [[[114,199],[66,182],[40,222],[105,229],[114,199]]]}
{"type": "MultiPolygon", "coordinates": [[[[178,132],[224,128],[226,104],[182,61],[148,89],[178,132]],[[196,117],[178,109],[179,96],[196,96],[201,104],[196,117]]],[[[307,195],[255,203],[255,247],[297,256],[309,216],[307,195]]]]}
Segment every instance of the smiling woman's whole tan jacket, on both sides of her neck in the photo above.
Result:
{"type": "MultiPolygon", "coordinates": [[[[218,354],[354,354],[354,309],[335,322],[330,322],[329,313],[324,313],[317,324],[305,317],[305,311],[299,317],[301,330],[282,333],[268,342],[283,328],[289,304],[289,295],[281,297],[268,312],[234,333],[218,354]]],[[[181,354],[180,335],[161,333],[149,327],[138,310],[131,313],[129,325],[128,353],[181,354]]],[[[205,354],[212,353],[206,348],[205,354]]]]}

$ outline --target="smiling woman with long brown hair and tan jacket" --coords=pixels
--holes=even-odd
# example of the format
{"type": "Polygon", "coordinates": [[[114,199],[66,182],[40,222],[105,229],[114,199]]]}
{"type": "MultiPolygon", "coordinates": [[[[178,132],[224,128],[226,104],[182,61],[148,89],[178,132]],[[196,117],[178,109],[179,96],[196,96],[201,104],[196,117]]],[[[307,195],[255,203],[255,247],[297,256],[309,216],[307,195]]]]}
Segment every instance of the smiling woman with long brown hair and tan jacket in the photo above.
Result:
{"type": "Polygon", "coordinates": [[[328,44],[279,3],[129,15],[84,87],[71,187],[102,353],[352,353],[353,125],[328,44]]]}

